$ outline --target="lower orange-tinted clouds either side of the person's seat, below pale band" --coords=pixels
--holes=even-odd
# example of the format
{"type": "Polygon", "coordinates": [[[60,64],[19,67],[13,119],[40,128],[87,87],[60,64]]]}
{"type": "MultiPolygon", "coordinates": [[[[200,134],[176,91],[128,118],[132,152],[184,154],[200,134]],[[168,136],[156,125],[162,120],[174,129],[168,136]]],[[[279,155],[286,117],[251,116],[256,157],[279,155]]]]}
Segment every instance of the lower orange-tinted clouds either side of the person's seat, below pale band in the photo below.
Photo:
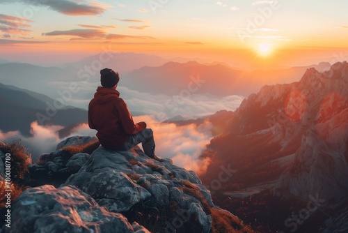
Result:
{"type": "MultiPolygon", "coordinates": [[[[212,139],[211,124],[206,121],[200,126],[190,124],[177,126],[175,123],[159,123],[153,116],[134,117],[135,122],[145,121],[148,128],[154,131],[156,154],[162,158],[172,158],[173,163],[198,174],[205,172],[209,160],[200,160],[200,153],[212,139]]],[[[19,132],[2,133],[0,141],[6,143],[20,142],[31,153],[33,162],[40,154],[55,151],[56,145],[63,139],[58,137],[58,130],[62,126],[40,126],[36,121],[31,123],[32,137],[24,137],[19,132]]],[[[95,136],[96,131],[90,130],[88,124],[74,128],[72,135],[95,136]]]]}

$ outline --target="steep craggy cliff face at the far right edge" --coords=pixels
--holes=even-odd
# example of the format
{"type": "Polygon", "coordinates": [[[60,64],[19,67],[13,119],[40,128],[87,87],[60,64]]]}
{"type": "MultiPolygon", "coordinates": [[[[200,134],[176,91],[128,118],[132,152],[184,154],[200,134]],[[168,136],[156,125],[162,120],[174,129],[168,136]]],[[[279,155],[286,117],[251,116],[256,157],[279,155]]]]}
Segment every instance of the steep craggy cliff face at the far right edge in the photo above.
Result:
{"type": "Polygon", "coordinates": [[[302,198],[347,197],[348,64],[336,63],[324,73],[308,70],[295,91],[301,95],[295,99],[300,103],[296,113],[306,130],[294,163],[276,188],[302,198]]]}

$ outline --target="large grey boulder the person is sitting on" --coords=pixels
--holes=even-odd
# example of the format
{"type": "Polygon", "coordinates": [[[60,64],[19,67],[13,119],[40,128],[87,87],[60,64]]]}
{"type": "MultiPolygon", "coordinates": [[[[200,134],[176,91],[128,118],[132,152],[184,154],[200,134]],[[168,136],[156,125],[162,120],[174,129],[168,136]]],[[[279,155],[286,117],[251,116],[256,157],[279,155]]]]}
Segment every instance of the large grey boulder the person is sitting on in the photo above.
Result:
{"type": "MultiPolygon", "coordinates": [[[[212,217],[209,211],[203,210],[213,208],[214,204],[198,176],[173,165],[170,159],[159,162],[149,158],[139,147],[130,151],[109,151],[100,147],[63,186],[77,186],[115,213],[141,211],[139,206],[144,203],[147,209],[176,206],[180,213],[189,216],[180,227],[187,224],[202,232],[211,230],[212,217]],[[188,189],[185,182],[193,186],[196,193],[184,192],[188,189]]],[[[173,218],[163,221],[171,222],[175,215],[177,212],[173,218]]]]}

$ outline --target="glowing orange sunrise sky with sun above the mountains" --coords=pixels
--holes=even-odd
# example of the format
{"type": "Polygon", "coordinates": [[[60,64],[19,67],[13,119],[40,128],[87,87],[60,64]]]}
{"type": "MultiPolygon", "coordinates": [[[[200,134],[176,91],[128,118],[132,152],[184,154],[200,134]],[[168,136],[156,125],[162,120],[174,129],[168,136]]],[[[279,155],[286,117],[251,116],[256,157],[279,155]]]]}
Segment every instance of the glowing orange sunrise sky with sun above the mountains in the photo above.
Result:
{"type": "Polygon", "coordinates": [[[347,60],[347,8],[346,0],[1,0],[0,59],[52,65],[112,47],[236,66],[333,63],[347,60]]]}

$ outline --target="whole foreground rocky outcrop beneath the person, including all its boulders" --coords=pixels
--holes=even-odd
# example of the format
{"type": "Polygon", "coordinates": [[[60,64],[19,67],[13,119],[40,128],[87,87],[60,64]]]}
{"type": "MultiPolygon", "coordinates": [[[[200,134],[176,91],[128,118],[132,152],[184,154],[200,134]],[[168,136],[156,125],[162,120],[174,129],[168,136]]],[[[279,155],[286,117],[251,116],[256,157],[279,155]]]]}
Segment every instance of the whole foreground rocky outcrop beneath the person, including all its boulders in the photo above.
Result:
{"type": "Polygon", "coordinates": [[[153,160],[139,147],[81,153],[94,143],[94,137],[71,137],[30,165],[31,179],[48,176],[56,187],[26,189],[3,232],[252,232],[214,206],[194,172],[153,160]]]}

